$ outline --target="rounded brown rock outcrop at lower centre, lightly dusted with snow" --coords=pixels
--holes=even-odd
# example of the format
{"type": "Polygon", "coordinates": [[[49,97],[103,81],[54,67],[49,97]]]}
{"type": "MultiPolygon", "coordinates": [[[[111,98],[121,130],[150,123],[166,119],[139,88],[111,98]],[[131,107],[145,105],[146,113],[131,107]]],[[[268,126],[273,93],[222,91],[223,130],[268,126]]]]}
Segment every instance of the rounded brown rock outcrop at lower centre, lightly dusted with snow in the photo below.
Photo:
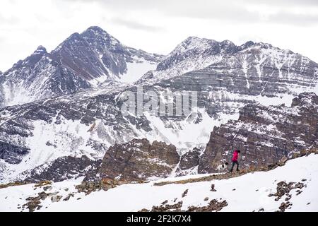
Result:
{"type": "Polygon", "coordinates": [[[167,177],[179,162],[174,145],[147,139],[133,139],[107,150],[100,177],[139,181],[148,177],[167,177]]]}

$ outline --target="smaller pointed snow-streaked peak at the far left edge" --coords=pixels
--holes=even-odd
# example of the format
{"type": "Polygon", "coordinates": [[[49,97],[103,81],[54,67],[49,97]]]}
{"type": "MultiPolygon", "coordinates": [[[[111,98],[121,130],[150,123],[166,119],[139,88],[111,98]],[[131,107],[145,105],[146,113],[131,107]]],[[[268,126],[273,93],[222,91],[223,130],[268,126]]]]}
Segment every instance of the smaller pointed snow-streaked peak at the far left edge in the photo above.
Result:
{"type": "Polygon", "coordinates": [[[53,61],[51,54],[40,46],[0,76],[0,106],[74,93],[90,86],[88,81],[53,61]]]}

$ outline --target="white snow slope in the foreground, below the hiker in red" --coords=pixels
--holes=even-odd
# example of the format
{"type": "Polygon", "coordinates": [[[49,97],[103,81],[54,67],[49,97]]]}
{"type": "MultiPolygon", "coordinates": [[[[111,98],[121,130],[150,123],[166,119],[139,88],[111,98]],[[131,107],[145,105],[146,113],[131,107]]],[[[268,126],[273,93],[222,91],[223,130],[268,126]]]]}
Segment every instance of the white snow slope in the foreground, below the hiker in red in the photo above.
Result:
{"type": "MultiPolygon", "coordinates": [[[[52,189],[46,192],[59,192],[63,196],[61,201],[52,203],[50,198],[41,201],[40,211],[138,211],[148,210],[152,206],[160,206],[167,200],[168,204],[182,201],[182,210],[189,206],[207,206],[212,199],[227,201],[221,211],[276,211],[285,202],[286,195],[279,201],[275,196],[278,182],[302,182],[302,189],[290,191],[292,203],[285,211],[318,211],[318,155],[311,154],[288,161],[283,167],[277,167],[268,172],[254,172],[231,179],[213,180],[210,182],[196,182],[187,184],[167,184],[155,186],[156,182],[177,181],[181,179],[204,177],[193,175],[177,178],[160,179],[145,184],[124,184],[108,191],[95,191],[89,195],[75,193],[69,201],[63,201],[69,193],[76,192],[74,185],[77,181],[65,181],[52,184],[52,189]],[[211,184],[215,184],[216,191],[210,191],[211,184]],[[189,189],[187,196],[182,193],[189,189]],[[67,190],[67,191],[66,191],[67,190]],[[297,191],[302,193],[296,195],[297,191]],[[208,197],[208,201],[204,199],[208,197]],[[78,199],[80,198],[80,199],[78,199]],[[177,198],[175,200],[175,198],[177,198]],[[222,198],[220,200],[220,198],[222,198]]],[[[25,198],[37,196],[43,191],[42,187],[34,190],[34,184],[11,186],[0,189],[0,210],[20,211],[25,198]]]]}

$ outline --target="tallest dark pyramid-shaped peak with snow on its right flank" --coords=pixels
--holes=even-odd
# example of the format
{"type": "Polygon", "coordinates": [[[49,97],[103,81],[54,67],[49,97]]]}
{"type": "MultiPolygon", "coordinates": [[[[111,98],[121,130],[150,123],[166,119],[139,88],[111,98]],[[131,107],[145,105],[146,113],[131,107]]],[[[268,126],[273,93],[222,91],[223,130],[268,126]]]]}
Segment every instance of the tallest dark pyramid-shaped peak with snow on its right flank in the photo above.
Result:
{"type": "MultiPolygon", "coordinates": [[[[124,46],[98,27],[74,33],[52,51],[52,58],[77,76],[94,83],[138,78],[154,68],[162,56],[124,46]],[[144,64],[147,64],[145,66],[144,64]],[[134,66],[141,71],[130,71],[134,66]],[[146,70],[142,70],[146,68],[146,70]],[[131,74],[131,73],[139,74],[131,74]],[[134,77],[134,78],[129,78],[134,77]]],[[[96,84],[97,85],[97,84],[96,84]]]]}

